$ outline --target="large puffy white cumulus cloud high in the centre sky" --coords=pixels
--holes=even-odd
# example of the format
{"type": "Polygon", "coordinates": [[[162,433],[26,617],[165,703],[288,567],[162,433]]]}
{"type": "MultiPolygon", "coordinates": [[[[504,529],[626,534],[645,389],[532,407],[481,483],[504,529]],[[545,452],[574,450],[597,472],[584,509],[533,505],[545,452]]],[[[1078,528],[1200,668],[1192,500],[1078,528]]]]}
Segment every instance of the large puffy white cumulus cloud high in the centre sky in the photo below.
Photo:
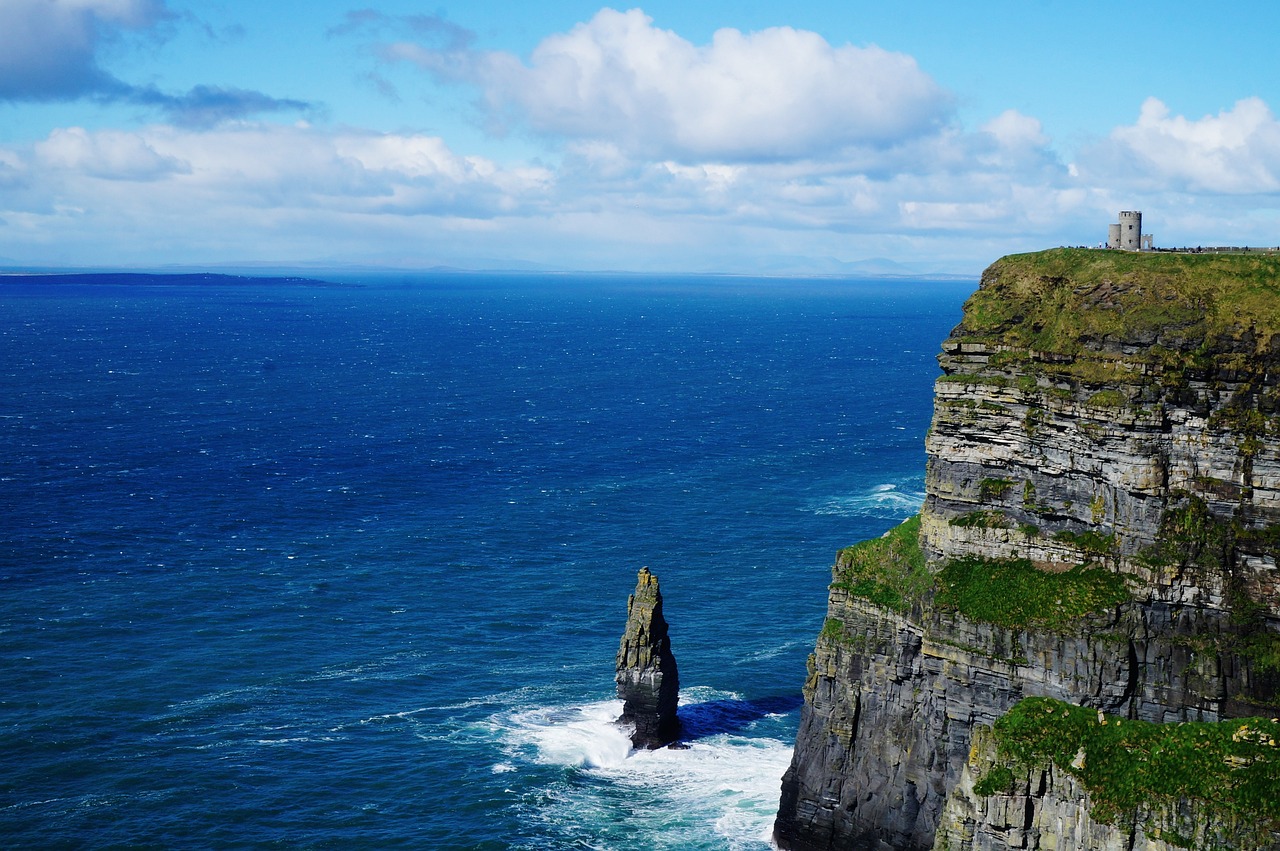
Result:
{"type": "Polygon", "coordinates": [[[936,132],[951,111],[950,95],[913,58],[832,46],[790,27],[726,28],[694,45],[639,9],[603,9],[544,38],[527,64],[443,35],[448,44],[387,42],[379,52],[477,86],[495,122],[646,157],[751,161],[886,147],[936,132]]]}

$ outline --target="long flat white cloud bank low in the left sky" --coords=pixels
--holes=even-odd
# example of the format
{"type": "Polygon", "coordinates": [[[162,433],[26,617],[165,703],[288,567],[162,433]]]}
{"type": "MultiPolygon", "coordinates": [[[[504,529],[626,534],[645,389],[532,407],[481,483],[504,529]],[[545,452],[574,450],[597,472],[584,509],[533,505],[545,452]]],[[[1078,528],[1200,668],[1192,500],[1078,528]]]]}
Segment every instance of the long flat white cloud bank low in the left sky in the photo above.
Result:
{"type": "MultiPolygon", "coordinates": [[[[550,177],[454,154],[436,137],[323,131],[306,124],[212,129],[54,131],[27,150],[0,148],[31,207],[177,212],[184,220],[253,210],[485,218],[535,202],[550,177]],[[106,182],[106,183],[104,183],[106,182]]],[[[0,197],[23,206],[22,193],[0,197]]]]}

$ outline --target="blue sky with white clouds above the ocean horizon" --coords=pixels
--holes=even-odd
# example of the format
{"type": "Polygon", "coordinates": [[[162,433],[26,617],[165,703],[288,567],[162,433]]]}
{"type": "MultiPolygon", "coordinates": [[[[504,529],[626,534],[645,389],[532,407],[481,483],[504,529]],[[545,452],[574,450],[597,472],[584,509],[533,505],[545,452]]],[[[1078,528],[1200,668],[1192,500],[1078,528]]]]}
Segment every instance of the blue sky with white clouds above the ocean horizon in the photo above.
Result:
{"type": "Polygon", "coordinates": [[[1274,246],[1276,32],[1249,0],[0,0],[0,265],[975,274],[1120,210],[1274,246]]]}

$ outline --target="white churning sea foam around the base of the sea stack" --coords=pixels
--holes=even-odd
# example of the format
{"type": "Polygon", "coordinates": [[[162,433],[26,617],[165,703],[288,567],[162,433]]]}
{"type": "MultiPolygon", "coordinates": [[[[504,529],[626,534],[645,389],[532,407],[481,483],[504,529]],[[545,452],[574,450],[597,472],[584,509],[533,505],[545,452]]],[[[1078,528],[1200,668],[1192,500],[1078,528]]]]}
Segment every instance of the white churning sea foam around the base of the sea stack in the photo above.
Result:
{"type": "MultiPolygon", "coordinates": [[[[696,712],[700,701],[736,697],[691,688],[681,705],[696,712]]],[[[748,729],[703,735],[680,750],[635,751],[613,724],[621,710],[621,701],[611,700],[494,719],[507,754],[494,772],[508,765],[526,773],[534,767],[576,769],[567,778],[549,775],[526,796],[536,802],[527,818],[573,847],[637,841],[662,850],[771,847],[790,744],[748,729]]]]}

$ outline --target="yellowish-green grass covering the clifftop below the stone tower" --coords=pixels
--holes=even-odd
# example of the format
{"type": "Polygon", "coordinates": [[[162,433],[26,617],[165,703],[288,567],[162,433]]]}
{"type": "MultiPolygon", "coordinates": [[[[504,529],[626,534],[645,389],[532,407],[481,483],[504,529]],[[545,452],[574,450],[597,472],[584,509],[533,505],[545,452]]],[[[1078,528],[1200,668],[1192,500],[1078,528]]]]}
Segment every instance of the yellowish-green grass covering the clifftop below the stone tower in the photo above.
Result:
{"type": "Polygon", "coordinates": [[[1010,255],[982,275],[959,335],[1075,354],[1083,340],[1198,349],[1253,329],[1280,333],[1280,257],[1053,248],[1010,255]]]}

